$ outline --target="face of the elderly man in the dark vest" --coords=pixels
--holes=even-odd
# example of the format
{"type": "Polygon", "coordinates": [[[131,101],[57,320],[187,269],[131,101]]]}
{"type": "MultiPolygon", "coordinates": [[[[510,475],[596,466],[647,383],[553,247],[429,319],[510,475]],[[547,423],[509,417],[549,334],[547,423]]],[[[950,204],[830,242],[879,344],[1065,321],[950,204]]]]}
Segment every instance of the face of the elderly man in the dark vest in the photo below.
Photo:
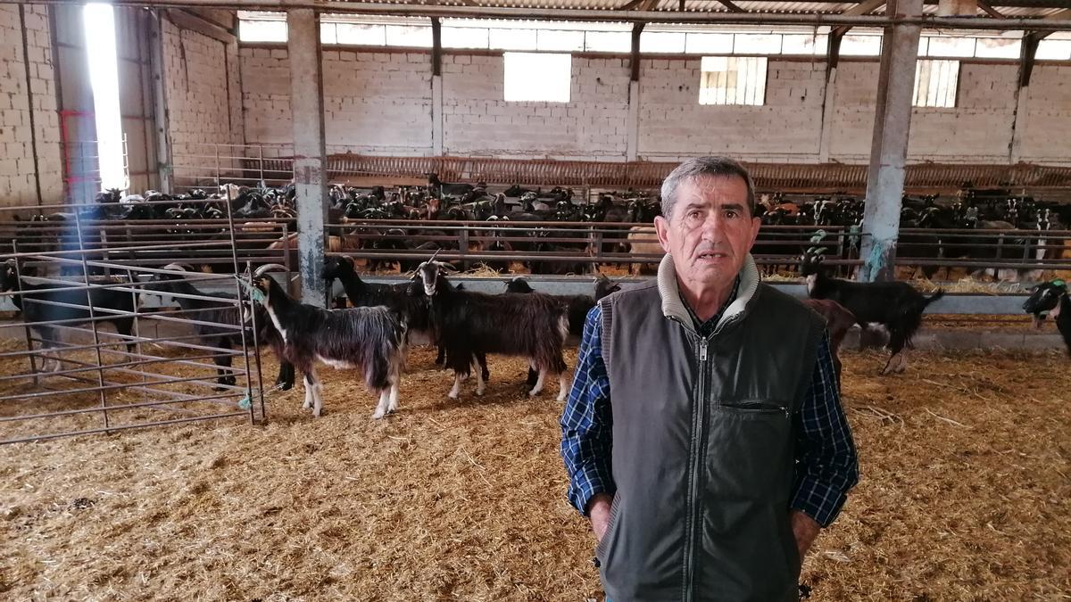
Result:
{"type": "Polygon", "coordinates": [[[673,256],[678,277],[699,289],[731,285],[759,224],[748,208],[748,184],[738,176],[684,182],[677,189],[673,214],[654,219],[659,242],[673,256]]]}

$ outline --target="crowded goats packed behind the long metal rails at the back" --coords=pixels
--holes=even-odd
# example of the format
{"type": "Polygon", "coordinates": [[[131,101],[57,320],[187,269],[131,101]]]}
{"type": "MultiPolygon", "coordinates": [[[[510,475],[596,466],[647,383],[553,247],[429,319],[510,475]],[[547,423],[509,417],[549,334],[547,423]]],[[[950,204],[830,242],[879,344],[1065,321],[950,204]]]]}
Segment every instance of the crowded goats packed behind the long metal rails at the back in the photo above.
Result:
{"type": "MultiPolygon", "coordinates": [[[[293,184],[270,187],[262,183],[254,187],[225,184],[211,193],[194,190],[178,195],[148,191],[123,196],[120,191],[105,191],[94,202],[76,206],[77,215],[56,212],[30,216],[30,223],[24,224],[15,238],[32,237],[34,227],[39,232],[54,231],[40,228],[77,219],[123,224],[144,221],[159,224],[164,234],[226,239],[230,232],[226,223],[212,230],[206,229],[205,221],[211,224],[229,217],[236,222],[236,230],[256,232],[263,231],[263,222],[250,221],[261,220],[285,225],[287,234],[276,231],[276,239],[261,236],[248,243],[236,237],[235,244],[242,252],[267,251],[281,256],[297,247],[295,197],[293,184]],[[188,225],[195,221],[199,222],[196,228],[188,225]]],[[[630,273],[649,273],[662,253],[650,225],[661,214],[660,198],[646,191],[607,192],[599,194],[597,200],[574,198],[571,189],[560,186],[532,190],[512,185],[492,193],[483,183],[447,183],[431,174],[427,185],[390,191],[333,184],[327,205],[328,249],[363,254],[372,271],[393,269],[396,264],[399,271],[411,272],[421,257],[443,251],[467,255],[464,268],[482,262],[499,273],[514,271],[521,256],[524,260],[519,262],[533,274],[595,273],[599,264],[605,262],[628,264],[630,273]]],[[[760,230],[754,254],[768,271],[794,271],[817,231],[830,236],[828,242],[835,244],[839,259],[858,260],[863,212],[862,199],[844,194],[761,195],[756,213],[765,225],[773,227],[760,230]]],[[[942,267],[950,276],[950,262],[967,260],[975,267],[972,275],[1027,281],[1039,271],[981,265],[1067,258],[1071,250],[1057,238],[1067,224],[1071,224],[1071,205],[1015,196],[1009,191],[965,187],[954,202],[938,202],[934,196],[905,196],[896,258],[902,266],[917,264],[915,273],[927,279],[942,267]]],[[[62,243],[63,237],[58,240],[62,243]]],[[[105,243],[97,239],[67,241],[66,247],[97,244],[105,243]]],[[[221,249],[218,255],[229,255],[229,251],[221,249]]],[[[218,265],[214,268],[221,269],[218,265]]]]}

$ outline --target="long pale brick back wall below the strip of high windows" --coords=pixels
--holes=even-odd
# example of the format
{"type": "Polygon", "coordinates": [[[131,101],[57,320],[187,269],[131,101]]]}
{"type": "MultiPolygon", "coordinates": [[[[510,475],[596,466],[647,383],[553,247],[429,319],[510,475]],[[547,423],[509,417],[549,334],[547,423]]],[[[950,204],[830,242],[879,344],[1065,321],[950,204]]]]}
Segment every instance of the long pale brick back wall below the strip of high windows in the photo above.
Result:
{"type": "MultiPolygon", "coordinates": [[[[245,136],[289,142],[289,66],[283,48],[241,50],[245,136]],[[252,84],[256,82],[256,84],[252,84]]],[[[356,152],[432,152],[429,54],[326,50],[328,142],[356,152]]],[[[640,63],[640,159],[728,153],[751,161],[819,157],[825,62],[770,59],[763,106],[699,105],[698,57],[640,63]]],[[[877,94],[876,60],[843,60],[830,159],[866,163],[877,94]]],[[[1014,116],[1014,63],[962,63],[955,108],[916,108],[908,161],[1004,163],[1014,116]]],[[[573,57],[569,103],[507,103],[502,58],[443,55],[443,151],[453,155],[620,161],[628,144],[629,66],[620,57],[573,57]]],[[[1035,67],[1024,161],[1068,163],[1071,66],[1035,67]],[[1064,157],[1062,160],[1060,157],[1064,157]]]]}

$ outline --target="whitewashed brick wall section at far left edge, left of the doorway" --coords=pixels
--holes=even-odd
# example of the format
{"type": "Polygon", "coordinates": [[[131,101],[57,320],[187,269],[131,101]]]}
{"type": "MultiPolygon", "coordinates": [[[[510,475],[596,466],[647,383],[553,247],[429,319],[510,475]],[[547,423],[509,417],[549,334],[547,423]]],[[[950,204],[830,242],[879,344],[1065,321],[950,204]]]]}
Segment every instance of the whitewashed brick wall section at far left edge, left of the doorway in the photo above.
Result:
{"type": "Polygon", "coordinates": [[[0,206],[5,207],[36,205],[35,181],[39,178],[43,202],[59,202],[63,195],[47,7],[26,5],[25,11],[24,30],[18,6],[0,6],[0,206]],[[27,89],[24,36],[29,55],[32,109],[27,89]]]}

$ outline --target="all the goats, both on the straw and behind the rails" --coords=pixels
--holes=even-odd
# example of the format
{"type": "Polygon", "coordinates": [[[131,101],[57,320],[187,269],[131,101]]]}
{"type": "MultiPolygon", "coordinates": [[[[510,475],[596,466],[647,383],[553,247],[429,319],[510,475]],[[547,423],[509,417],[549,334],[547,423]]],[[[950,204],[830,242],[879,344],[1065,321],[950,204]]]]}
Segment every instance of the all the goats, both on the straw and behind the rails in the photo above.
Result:
{"type": "MultiPolygon", "coordinates": [[[[576,205],[572,191],[528,191],[519,186],[489,194],[485,186],[448,184],[433,175],[427,186],[357,191],[331,186],[331,224],[360,227],[360,221],[412,220],[427,221],[482,221],[482,222],[584,222],[598,224],[620,223],[625,228],[622,240],[634,230],[649,228],[630,224],[649,223],[659,214],[659,199],[633,193],[602,195],[597,202],[576,205]],[[512,207],[509,198],[519,199],[519,207],[512,207]]],[[[985,197],[966,194],[951,206],[939,206],[933,198],[905,199],[903,222],[919,228],[976,228],[976,229],[1058,229],[1057,224],[1071,220],[1067,206],[1046,204],[1029,198],[985,197]]],[[[783,197],[764,197],[758,211],[764,222],[773,225],[858,228],[862,219],[861,200],[817,198],[808,202],[790,202],[783,197]]],[[[122,197],[118,192],[105,192],[97,202],[78,208],[77,220],[137,221],[152,220],[178,224],[184,220],[255,220],[268,217],[292,220],[295,194],[292,186],[283,189],[242,189],[222,186],[220,192],[206,194],[197,191],[190,195],[167,196],[147,193],[136,197],[122,197]]],[[[71,214],[37,216],[31,223],[70,221],[71,214]]],[[[484,228],[484,226],[480,226],[484,228]]],[[[434,230],[423,227],[423,230],[434,230]]],[[[532,238],[530,250],[539,250],[540,232],[553,231],[547,226],[526,229],[532,238]]],[[[811,230],[813,231],[813,230],[811,230]]],[[[406,238],[411,238],[407,235],[406,238]]],[[[905,239],[910,241],[910,235],[905,239]]],[[[449,237],[448,237],[449,238],[449,237]]],[[[494,237],[492,237],[494,238],[494,237]]],[[[567,237],[568,238],[568,237],[567,237]]],[[[375,239],[373,244],[382,242],[375,239]]],[[[546,243],[553,245],[568,242],[546,243]]],[[[208,292],[187,282],[183,272],[197,271],[183,261],[170,261],[164,269],[154,270],[150,280],[137,286],[145,292],[172,294],[188,319],[195,334],[206,344],[218,349],[233,349],[252,341],[252,325],[256,325],[255,340],[268,345],[280,360],[276,386],[292,387],[296,373],[304,378],[305,408],[314,416],[322,409],[322,387],[316,374],[316,363],[322,362],[336,368],[352,368],[362,376],[367,388],[379,395],[374,418],[382,418],[397,409],[398,386],[405,366],[405,353],[411,344],[434,344],[439,347],[437,363],[452,370],[451,398],[461,393],[462,382],[474,372],[477,395],[483,394],[491,376],[488,355],[525,358],[530,366],[528,392],[542,391],[548,377],[559,380],[558,400],[569,389],[563,347],[570,335],[580,335],[588,311],[603,297],[621,289],[621,285],[600,275],[590,296],[553,296],[539,294],[523,279],[507,284],[502,294],[491,295],[465,290],[451,282],[454,267],[435,260],[439,252],[449,252],[444,243],[424,242],[414,249],[426,251],[408,270],[411,277],[397,285],[372,284],[359,275],[360,268],[353,258],[331,255],[322,274],[329,285],[340,280],[348,305],[319,308],[292,299],[287,290],[268,272],[272,265],[259,266],[246,279],[239,279],[248,287],[248,298],[254,301],[252,311],[243,308],[236,295],[208,292]],[[431,255],[431,259],[426,257],[431,255]],[[244,331],[244,332],[243,332],[244,331]]],[[[775,242],[776,243],[776,242],[775,242]]],[[[589,245],[590,240],[577,244],[589,245]]],[[[612,242],[612,244],[619,244],[612,242]]],[[[785,244],[783,242],[778,244],[785,244]]],[[[907,365],[906,352],[911,336],[918,330],[922,313],[944,292],[925,297],[905,282],[859,283],[835,277],[835,270],[825,264],[830,256],[828,249],[813,242],[801,241],[790,252],[798,259],[798,270],[806,279],[806,301],[821,314],[828,325],[840,373],[836,350],[848,329],[854,325],[881,325],[889,333],[891,355],[883,374],[903,372],[907,365]],[[800,252],[802,251],[802,253],[800,252]]],[[[922,249],[903,245],[902,249],[922,249]]],[[[1013,244],[1009,242],[1008,244],[1013,244]]],[[[1035,241],[1037,244],[1037,241],[1035,241]]],[[[965,245],[966,246],[966,245],[965,245]]],[[[375,249],[375,246],[373,246],[375,249]]],[[[575,250],[575,247],[570,247],[575,250]]],[[[940,253],[949,256],[947,246],[940,253]]],[[[930,250],[932,252],[932,250],[930,250]]],[[[757,255],[763,253],[761,247],[757,255]]],[[[903,255],[903,252],[901,253],[903,255]]],[[[419,256],[418,254],[413,254],[419,256]]],[[[954,253],[953,253],[954,255],[954,253]]],[[[833,258],[836,258],[835,255],[833,258]]],[[[159,264],[157,264],[159,266],[159,264]]],[[[403,266],[405,268],[405,266],[403,266]]],[[[10,259],[0,276],[0,292],[12,295],[21,317],[43,342],[40,355],[46,358],[43,368],[60,368],[59,335],[57,322],[85,323],[93,319],[110,322],[127,337],[132,334],[133,312],[136,300],[129,291],[108,287],[77,289],[52,283],[34,283],[22,280],[32,271],[19,270],[19,264],[10,259]],[[88,295],[88,306],[87,306],[88,295]],[[112,311],[112,312],[109,312],[112,311]]],[[[1057,328],[1071,352],[1071,301],[1062,281],[1036,286],[1024,304],[1040,323],[1044,314],[1056,319],[1057,328]]],[[[129,352],[133,343],[126,338],[129,352]]],[[[220,353],[214,359],[217,366],[216,383],[221,388],[235,387],[231,355],[220,353]]]]}

